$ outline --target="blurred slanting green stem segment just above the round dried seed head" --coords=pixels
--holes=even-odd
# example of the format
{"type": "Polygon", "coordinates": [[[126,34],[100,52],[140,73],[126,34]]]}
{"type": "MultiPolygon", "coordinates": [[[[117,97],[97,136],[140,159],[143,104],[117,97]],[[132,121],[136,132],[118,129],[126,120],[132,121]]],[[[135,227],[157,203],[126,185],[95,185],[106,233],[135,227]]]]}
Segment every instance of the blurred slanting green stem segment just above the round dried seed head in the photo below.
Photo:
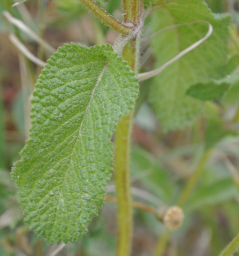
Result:
{"type": "Polygon", "coordinates": [[[182,207],[185,204],[185,202],[188,200],[189,196],[191,195],[192,190],[195,187],[196,182],[200,178],[204,170],[205,164],[208,161],[210,155],[211,155],[211,150],[206,150],[202,155],[196,170],[193,172],[192,176],[189,178],[186,187],[184,188],[182,194],[179,197],[179,200],[177,203],[179,207],[182,207]]]}

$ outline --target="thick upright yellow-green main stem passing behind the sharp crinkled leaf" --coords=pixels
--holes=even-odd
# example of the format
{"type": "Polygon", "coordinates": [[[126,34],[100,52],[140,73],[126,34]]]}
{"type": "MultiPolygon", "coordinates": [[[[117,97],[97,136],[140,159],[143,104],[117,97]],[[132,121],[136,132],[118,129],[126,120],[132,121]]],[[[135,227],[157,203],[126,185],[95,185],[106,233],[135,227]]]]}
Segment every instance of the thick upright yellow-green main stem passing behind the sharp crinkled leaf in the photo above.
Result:
{"type": "MultiPolygon", "coordinates": [[[[141,0],[124,0],[124,22],[139,23],[140,8],[137,6],[140,5],[141,0]]],[[[124,47],[123,58],[136,73],[137,53],[137,37],[135,37],[124,47]]],[[[133,112],[119,121],[115,133],[115,191],[118,208],[116,256],[129,256],[132,247],[133,211],[129,168],[132,120],[133,112]]]]}

